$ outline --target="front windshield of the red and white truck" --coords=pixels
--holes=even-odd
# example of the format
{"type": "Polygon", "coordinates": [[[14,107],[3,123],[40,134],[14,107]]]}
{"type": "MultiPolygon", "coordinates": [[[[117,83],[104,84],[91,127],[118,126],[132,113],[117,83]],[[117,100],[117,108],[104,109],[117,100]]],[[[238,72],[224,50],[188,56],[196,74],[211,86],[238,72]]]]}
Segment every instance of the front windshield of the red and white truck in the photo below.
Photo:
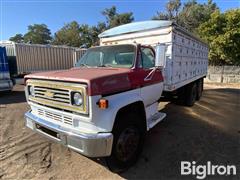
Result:
{"type": "Polygon", "coordinates": [[[102,46],[88,49],[77,62],[76,67],[130,68],[133,66],[134,59],[135,46],[133,45],[102,46]]]}

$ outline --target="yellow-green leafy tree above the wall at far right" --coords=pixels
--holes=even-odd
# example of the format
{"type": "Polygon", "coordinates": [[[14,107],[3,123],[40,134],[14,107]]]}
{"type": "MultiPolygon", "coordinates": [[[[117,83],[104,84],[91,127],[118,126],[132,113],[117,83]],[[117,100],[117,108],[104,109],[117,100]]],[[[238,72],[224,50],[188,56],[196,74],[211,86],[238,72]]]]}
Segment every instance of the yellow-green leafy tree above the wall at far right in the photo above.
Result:
{"type": "Polygon", "coordinates": [[[198,32],[209,43],[211,64],[240,65],[240,9],[215,11],[198,32]]]}

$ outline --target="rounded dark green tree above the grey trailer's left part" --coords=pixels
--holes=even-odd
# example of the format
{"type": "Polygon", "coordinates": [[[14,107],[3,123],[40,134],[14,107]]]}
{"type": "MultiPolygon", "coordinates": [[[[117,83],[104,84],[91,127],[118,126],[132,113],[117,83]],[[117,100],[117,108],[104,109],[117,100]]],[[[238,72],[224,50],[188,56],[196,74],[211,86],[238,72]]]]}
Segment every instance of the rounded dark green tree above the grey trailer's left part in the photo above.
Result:
{"type": "Polygon", "coordinates": [[[52,40],[51,31],[45,24],[28,26],[28,32],[24,35],[25,43],[49,44],[52,40]]]}

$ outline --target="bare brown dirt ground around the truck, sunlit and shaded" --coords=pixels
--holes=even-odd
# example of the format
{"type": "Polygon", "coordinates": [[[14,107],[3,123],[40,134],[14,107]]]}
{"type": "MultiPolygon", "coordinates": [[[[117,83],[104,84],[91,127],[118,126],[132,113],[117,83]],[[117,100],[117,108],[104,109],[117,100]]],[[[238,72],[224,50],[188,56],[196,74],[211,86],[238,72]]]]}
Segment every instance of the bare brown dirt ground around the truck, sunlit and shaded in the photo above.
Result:
{"type": "Polygon", "coordinates": [[[167,117],[147,134],[137,164],[121,174],[26,128],[23,88],[0,94],[0,179],[179,179],[181,161],[233,164],[238,175],[231,178],[240,179],[240,85],[205,84],[191,108],[161,103],[167,117]]]}

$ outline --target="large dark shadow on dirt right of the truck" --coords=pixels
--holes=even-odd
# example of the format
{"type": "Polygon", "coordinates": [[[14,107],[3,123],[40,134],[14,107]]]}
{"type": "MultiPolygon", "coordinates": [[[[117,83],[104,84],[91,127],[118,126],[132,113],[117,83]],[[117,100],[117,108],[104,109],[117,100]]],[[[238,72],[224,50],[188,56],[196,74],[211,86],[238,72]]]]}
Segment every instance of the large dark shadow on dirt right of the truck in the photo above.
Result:
{"type": "Polygon", "coordinates": [[[207,89],[193,107],[167,104],[163,111],[167,117],[148,133],[140,160],[121,177],[183,178],[181,161],[240,167],[240,89],[207,89]]]}

